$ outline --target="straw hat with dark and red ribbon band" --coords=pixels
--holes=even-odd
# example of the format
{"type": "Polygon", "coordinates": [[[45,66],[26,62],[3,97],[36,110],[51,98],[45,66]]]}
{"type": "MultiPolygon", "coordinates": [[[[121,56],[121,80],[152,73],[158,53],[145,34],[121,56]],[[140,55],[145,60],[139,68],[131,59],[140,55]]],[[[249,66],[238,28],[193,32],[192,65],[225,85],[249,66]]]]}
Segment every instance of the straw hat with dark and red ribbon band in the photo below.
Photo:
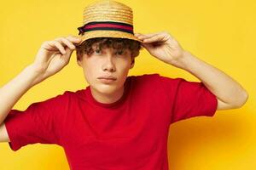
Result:
{"type": "Polygon", "coordinates": [[[78,28],[82,42],[93,37],[120,37],[142,42],[134,36],[132,9],[123,3],[111,0],[91,3],[84,8],[83,25],[78,28]]]}

